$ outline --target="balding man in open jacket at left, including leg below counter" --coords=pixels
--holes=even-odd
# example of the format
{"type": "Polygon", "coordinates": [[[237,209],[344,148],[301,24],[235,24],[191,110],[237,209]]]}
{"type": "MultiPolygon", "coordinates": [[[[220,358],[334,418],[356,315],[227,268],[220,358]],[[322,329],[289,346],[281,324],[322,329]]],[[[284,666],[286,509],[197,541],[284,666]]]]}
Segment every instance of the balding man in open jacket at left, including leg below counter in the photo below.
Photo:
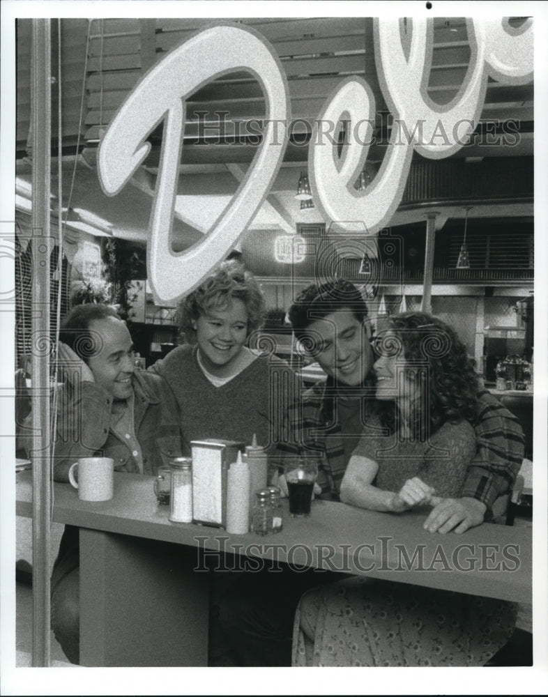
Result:
{"type": "MultiPolygon", "coordinates": [[[[107,305],[78,305],[63,321],[59,362],[66,384],[54,479],[68,482],[79,457],[114,459],[114,469],[153,475],[181,454],[178,406],[164,378],[135,371],[128,328],[107,305]]],[[[66,526],[52,574],[52,628],[79,662],[78,529],[66,526]]]]}

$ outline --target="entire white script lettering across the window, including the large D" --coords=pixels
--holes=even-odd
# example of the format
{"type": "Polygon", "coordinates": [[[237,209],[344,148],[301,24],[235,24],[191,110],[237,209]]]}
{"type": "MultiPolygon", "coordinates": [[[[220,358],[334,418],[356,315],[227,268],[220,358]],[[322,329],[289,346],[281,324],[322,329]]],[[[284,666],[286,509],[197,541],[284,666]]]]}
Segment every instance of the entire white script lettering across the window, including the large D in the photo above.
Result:
{"type": "MultiPolygon", "coordinates": [[[[358,77],[342,80],[317,119],[309,148],[312,189],[326,223],[362,221],[369,233],[378,231],[390,221],[402,199],[414,149],[426,158],[439,159],[462,147],[466,135],[473,132],[478,122],[489,75],[503,84],[522,84],[531,79],[532,20],[517,30],[501,19],[466,21],[471,43],[470,67],[455,99],[439,106],[426,94],[432,63],[432,22],[413,19],[406,56],[399,20],[375,20],[375,56],[381,89],[406,137],[402,139],[401,132],[393,129],[379,172],[365,192],[356,191],[353,183],[367,160],[369,146],[363,144],[363,139],[353,139],[344,146],[339,158],[333,144],[321,134],[326,124],[338,123],[342,118],[351,125],[364,123],[367,134],[367,129],[372,128],[368,123],[374,123],[375,105],[367,82],[358,77]],[[463,124],[455,138],[455,128],[463,124]]],[[[150,146],[144,139],[162,119],[164,138],[147,265],[155,301],[167,303],[192,291],[234,247],[264,201],[280,167],[290,114],[287,82],[273,48],[257,31],[223,23],[204,29],[167,54],[135,86],[102,139],[98,173],[105,193],[114,195],[128,182],[149,153],[150,146]],[[252,167],[204,240],[190,250],[175,253],[169,240],[181,162],[185,98],[202,84],[233,70],[248,70],[261,84],[266,101],[264,138],[252,167]]]]}

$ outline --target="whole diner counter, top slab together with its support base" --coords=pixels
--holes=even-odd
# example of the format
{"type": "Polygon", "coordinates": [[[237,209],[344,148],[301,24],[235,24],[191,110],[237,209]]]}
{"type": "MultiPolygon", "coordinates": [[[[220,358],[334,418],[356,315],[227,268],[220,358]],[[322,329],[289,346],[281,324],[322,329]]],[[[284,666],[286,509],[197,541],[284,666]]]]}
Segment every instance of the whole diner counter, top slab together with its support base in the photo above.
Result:
{"type": "MultiPolygon", "coordinates": [[[[422,527],[425,511],[396,515],[315,500],[310,518],[291,518],[284,501],[277,535],[229,535],[170,522],[153,480],[115,473],[114,498],[98,503],[54,484],[53,521],[80,528],[84,666],[206,666],[208,567],[216,561],[229,569],[234,560],[237,569],[248,562],[251,573],[264,558],[531,602],[529,528],[485,524],[464,535],[432,535],[422,527]]],[[[31,473],[18,473],[16,482],[17,515],[31,517],[31,473]]]]}

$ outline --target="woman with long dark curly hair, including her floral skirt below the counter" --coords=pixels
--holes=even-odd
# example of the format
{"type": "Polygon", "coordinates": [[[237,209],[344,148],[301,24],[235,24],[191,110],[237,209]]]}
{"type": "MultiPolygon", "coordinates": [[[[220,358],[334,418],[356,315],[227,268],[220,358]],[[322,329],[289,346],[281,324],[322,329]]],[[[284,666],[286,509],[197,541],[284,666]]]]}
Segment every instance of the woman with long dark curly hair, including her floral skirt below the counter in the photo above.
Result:
{"type": "MultiPolygon", "coordinates": [[[[477,378],[455,331],[423,313],[376,339],[379,410],[340,487],[342,502],[403,513],[460,496],[475,455],[477,378]]],[[[403,583],[347,579],[307,592],[296,666],[481,666],[510,638],[517,606],[403,583]]]]}

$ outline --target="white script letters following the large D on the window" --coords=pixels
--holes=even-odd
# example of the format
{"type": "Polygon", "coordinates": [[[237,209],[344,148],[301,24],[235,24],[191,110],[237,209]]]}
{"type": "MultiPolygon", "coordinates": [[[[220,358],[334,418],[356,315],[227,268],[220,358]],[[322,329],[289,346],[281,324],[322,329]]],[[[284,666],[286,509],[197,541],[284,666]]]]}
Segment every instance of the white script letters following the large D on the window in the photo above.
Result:
{"type": "Polygon", "coordinates": [[[328,221],[360,220],[370,233],[390,223],[411,167],[413,150],[425,158],[446,158],[466,144],[475,130],[487,90],[487,79],[523,84],[533,77],[533,27],[527,20],[512,29],[498,20],[466,20],[471,57],[464,83],[447,105],[427,95],[432,67],[434,25],[413,18],[409,57],[399,32],[399,20],[375,20],[375,61],[379,83],[394,124],[386,155],[365,191],[356,182],[367,160],[375,118],[370,86],[359,77],[344,79],[317,119],[308,155],[310,184],[328,221]],[[335,148],[321,138],[326,124],[347,120],[349,129],[363,125],[362,137],[351,138],[337,158],[335,148]],[[365,137],[363,137],[365,135],[365,137]]]}

